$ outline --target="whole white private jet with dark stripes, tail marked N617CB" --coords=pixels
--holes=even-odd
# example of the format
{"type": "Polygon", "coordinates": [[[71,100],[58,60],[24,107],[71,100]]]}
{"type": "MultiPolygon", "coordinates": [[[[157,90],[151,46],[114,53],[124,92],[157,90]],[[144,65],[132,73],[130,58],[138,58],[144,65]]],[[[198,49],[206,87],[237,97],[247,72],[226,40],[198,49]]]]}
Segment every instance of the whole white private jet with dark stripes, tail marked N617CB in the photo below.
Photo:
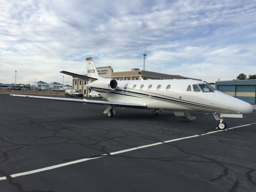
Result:
{"type": "Polygon", "coordinates": [[[88,104],[106,105],[104,113],[108,117],[116,114],[115,107],[144,108],[157,115],[161,110],[173,110],[178,117],[194,120],[191,111],[212,113],[219,120],[217,129],[226,129],[223,117],[243,118],[252,112],[252,105],[238,98],[226,95],[209,84],[190,79],[173,80],[123,80],[102,78],[98,75],[93,59],[86,58],[88,76],[61,71],[61,73],[92,81],[86,86],[100,92],[108,101],[81,100],[72,98],[55,98],[44,96],[11,96],[83,102],[88,104]]]}

